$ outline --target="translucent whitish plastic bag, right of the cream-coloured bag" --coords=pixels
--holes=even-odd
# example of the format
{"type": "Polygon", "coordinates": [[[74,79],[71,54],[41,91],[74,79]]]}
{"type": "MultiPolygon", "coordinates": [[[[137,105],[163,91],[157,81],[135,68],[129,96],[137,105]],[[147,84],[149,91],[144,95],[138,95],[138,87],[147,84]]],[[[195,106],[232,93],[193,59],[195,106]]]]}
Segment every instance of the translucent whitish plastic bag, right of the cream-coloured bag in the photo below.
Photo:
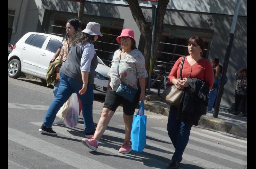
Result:
{"type": "Polygon", "coordinates": [[[78,114],[79,114],[79,103],[77,99],[77,94],[73,93],[70,96],[68,113],[64,120],[65,125],[67,127],[76,127],[78,123],[78,114]]]}

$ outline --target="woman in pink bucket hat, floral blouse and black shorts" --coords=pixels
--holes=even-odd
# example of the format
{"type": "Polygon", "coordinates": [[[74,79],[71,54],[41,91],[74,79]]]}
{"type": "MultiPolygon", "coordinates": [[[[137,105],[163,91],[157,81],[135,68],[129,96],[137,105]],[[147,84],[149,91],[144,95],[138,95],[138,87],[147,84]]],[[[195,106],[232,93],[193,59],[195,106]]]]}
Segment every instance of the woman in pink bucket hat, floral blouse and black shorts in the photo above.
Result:
{"type": "Polygon", "coordinates": [[[148,77],[148,73],[145,68],[144,56],[136,48],[132,29],[123,29],[121,35],[116,38],[116,41],[120,44],[120,49],[114,53],[112,66],[108,73],[110,78],[102,114],[94,136],[89,139],[84,138],[82,143],[90,149],[97,151],[98,141],[100,141],[101,136],[108,127],[108,123],[116,108],[122,104],[124,109],[125,138],[119,152],[128,154],[132,151],[130,140],[133,114],[139,101],[145,100],[145,78],[148,77]],[[133,99],[126,99],[116,93],[121,83],[126,84],[135,91],[137,90],[133,99]]]}

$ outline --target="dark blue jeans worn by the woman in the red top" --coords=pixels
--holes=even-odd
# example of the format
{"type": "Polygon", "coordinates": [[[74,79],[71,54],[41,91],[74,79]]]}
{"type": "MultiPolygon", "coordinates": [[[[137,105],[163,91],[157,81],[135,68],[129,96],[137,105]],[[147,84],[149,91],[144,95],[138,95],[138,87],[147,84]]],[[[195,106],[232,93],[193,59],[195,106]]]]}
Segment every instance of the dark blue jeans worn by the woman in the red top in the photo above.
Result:
{"type": "Polygon", "coordinates": [[[193,123],[184,123],[183,121],[177,119],[177,111],[178,107],[170,107],[167,131],[175,148],[173,158],[181,161],[182,154],[188,144],[190,129],[193,126],[193,123]]]}

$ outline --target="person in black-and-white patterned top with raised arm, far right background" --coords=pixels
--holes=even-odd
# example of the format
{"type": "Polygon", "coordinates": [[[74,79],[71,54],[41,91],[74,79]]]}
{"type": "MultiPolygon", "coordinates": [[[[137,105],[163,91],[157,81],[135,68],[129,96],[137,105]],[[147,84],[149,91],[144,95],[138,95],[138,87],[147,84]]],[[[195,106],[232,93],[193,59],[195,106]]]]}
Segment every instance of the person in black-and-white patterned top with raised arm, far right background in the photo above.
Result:
{"type": "Polygon", "coordinates": [[[237,78],[236,92],[235,92],[235,110],[231,114],[244,116],[245,103],[247,99],[247,69],[240,69],[235,73],[237,78]],[[241,103],[241,113],[237,112],[239,104],[241,103]]]}

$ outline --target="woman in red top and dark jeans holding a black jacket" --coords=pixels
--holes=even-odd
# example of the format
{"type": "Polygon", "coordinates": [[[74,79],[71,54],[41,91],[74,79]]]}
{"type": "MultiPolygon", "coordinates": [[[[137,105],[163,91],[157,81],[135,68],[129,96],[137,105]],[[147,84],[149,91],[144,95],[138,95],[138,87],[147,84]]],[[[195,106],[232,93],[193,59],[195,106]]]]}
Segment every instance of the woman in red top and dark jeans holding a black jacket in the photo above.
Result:
{"type": "Polygon", "coordinates": [[[185,56],[182,68],[183,79],[176,79],[180,78],[182,57],[175,62],[168,76],[168,84],[184,90],[184,93],[180,105],[170,107],[167,131],[175,151],[167,169],[179,168],[188,144],[190,129],[193,125],[197,126],[201,115],[206,114],[207,95],[213,85],[213,70],[211,62],[201,56],[203,52],[204,40],[192,36],[188,40],[189,55],[185,56]]]}

